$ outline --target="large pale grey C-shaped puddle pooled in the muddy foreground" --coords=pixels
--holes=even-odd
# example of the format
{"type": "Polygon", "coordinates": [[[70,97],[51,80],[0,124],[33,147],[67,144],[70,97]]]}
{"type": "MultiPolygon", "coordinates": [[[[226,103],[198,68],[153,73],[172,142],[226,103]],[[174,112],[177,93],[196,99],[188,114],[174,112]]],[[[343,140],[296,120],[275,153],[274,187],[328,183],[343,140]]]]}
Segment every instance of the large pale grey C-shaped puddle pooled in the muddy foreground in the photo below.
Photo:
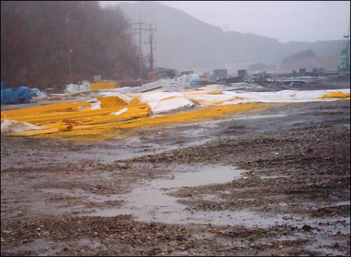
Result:
{"type": "MultiPolygon", "coordinates": [[[[183,168],[183,166],[180,167],[183,168]]],[[[241,178],[242,172],[244,171],[232,166],[201,166],[197,169],[187,166],[187,172],[173,173],[171,179],[151,180],[136,187],[132,192],[121,197],[127,202],[121,208],[98,210],[89,216],[128,214],[135,216],[136,220],[140,221],[213,223],[218,215],[222,215],[221,213],[214,214],[213,218],[209,217],[206,212],[188,213],[183,211],[186,206],[176,202],[177,198],[167,195],[167,192],[179,187],[227,183],[241,178]]],[[[223,215],[227,215],[227,213],[223,215]]]]}

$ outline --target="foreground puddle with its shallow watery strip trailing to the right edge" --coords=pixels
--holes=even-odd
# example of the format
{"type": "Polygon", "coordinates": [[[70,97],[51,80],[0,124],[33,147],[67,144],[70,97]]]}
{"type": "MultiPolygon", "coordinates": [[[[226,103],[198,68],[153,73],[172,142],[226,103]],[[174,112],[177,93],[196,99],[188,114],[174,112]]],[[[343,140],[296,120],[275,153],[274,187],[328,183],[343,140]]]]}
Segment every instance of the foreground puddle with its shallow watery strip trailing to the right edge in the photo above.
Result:
{"type": "MultiPolygon", "coordinates": [[[[140,187],[126,194],[118,195],[120,200],[126,201],[121,208],[99,209],[88,216],[117,216],[119,214],[132,215],[135,220],[161,223],[199,223],[213,225],[244,225],[246,227],[269,228],[277,224],[293,225],[302,228],[303,225],[311,225],[323,232],[338,232],[331,226],[317,225],[318,222],[336,222],[339,218],[303,218],[290,214],[265,213],[260,214],[249,210],[240,211],[186,211],[185,205],[179,204],[176,197],[167,195],[179,187],[194,187],[199,185],[228,183],[241,178],[245,171],[235,169],[232,166],[178,166],[173,170],[178,173],[171,174],[171,179],[157,179],[144,183],[140,187]]],[[[270,177],[272,178],[272,176],[270,177]]],[[[114,197],[113,195],[111,197],[114,197]]],[[[218,199],[217,201],[220,201],[218,199]]],[[[350,225],[350,217],[344,217],[346,224],[350,225]]],[[[345,231],[350,228],[345,226],[345,231]]],[[[338,228],[340,230],[340,228],[338,228]]]]}

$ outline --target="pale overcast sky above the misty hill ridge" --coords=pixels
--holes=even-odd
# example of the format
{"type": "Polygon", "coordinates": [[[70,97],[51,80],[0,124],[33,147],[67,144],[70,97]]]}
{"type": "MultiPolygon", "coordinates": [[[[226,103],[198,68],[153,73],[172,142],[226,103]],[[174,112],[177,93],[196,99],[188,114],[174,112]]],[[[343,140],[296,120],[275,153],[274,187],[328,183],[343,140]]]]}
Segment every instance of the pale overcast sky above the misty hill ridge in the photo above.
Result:
{"type": "MultiPolygon", "coordinates": [[[[100,2],[105,5],[121,1],[100,2]]],[[[281,42],[343,39],[350,20],[350,1],[156,2],[226,31],[253,33],[281,42]]]]}

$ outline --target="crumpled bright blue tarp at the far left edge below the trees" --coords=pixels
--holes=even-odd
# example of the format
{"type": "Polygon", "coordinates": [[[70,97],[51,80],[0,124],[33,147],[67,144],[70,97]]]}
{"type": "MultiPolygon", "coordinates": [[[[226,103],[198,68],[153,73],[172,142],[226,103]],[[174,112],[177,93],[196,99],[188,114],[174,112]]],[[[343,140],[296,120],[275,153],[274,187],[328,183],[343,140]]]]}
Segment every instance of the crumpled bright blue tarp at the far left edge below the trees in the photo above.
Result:
{"type": "Polygon", "coordinates": [[[1,86],[1,105],[29,103],[35,95],[37,95],[37,91],[31,90],[27,86],[20,86],[15,89],[7,88],[4,90],[1,86]]]}

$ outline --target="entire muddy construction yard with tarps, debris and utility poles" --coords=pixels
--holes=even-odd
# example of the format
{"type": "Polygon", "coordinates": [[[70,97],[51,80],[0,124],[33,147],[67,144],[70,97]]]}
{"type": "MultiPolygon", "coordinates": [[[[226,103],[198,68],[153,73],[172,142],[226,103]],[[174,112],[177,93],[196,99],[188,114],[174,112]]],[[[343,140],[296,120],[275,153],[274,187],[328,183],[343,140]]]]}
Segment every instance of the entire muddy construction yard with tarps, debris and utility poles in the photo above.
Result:
{"type": "Polygon", "coordinates": [[[232,75],[148,29],[147,77],[1,82],[1,256],[350,256],[350,25],[333,70],[232,75]]]}

